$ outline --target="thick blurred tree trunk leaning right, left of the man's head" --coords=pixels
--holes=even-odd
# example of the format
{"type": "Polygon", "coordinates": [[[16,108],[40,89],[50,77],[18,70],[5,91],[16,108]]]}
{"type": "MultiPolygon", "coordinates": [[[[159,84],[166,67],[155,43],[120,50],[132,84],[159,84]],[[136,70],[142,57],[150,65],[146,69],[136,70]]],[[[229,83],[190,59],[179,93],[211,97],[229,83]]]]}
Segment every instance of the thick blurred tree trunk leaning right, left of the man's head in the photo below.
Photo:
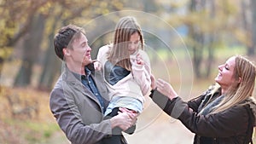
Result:
{"type": "Polygon", "coordinates": [[[40,44],[44,35],[44,15],[35,14],[32,16],[32,27],[27,32],[23,45],[23,60],[20,71],[15,78],[15,86],[26,87],[31,84],[32,68],[38,60],[40,44]]]}

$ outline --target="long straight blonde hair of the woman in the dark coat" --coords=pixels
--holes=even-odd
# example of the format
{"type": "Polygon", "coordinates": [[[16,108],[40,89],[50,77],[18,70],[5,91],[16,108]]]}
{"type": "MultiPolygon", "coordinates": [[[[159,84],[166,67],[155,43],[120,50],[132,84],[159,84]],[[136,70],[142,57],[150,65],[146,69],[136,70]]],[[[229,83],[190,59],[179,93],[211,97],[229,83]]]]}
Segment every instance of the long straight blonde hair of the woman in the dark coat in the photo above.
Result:
{"type": "Polygon", "coordinates": [[[241,82],[230,86],[230,89],[224,94],[223,101],[216,106],[212,113],[222,112],[230,107],[240,105],[253,95],[255,84],[255,66],[253,62],[237,55],[233,77],[236,80],[241,78],[241,82]]]}

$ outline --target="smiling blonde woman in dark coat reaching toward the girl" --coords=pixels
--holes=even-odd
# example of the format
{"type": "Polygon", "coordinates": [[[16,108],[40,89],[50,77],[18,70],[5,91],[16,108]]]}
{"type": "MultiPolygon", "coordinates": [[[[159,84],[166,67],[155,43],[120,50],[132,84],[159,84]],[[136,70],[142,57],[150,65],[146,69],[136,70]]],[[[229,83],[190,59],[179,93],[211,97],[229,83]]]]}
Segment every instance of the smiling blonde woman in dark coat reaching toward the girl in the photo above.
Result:
{"type": "Polygon", "coordinates": [[[240,55],[232,56],[218,66],[215,81],[217,84],[203,95],[184,102],[170,84],[158,79],[157,90],[151,96],[164,112],[195,133],[194,144],[252,142],[256,115],[255,66],[240,55]]]}

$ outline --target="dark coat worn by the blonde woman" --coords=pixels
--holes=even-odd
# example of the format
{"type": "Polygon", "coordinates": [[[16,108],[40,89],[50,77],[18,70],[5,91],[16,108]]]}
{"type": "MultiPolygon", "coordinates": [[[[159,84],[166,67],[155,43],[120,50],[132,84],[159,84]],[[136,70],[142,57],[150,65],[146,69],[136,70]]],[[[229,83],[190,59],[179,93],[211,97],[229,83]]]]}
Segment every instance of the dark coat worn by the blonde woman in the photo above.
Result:
{"type": "Polygon", "coordinates": [[[224,112],[201,115],[201,107],[219,96],[208,89],[203,95],[185,102],[177,97],[172,101],[158,91],[152,100],[164,112],[179,119],[191,132],[195,133],[194,144],[247,144],[253,135],[256,105],[252,100],[245,105],[231,107],[224,112]],[[212,95],[212,99],[209,97],[212,95]]]}

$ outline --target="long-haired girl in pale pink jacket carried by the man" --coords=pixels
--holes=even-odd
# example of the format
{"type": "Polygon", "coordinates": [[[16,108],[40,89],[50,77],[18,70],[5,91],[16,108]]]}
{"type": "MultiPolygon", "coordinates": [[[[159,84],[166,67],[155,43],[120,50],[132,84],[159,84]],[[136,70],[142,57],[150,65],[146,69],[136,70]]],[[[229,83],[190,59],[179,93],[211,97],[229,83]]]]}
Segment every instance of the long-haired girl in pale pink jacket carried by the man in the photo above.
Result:
{"type": "MultiPolygon", "coordinates": [[[[99,49],[97,60],[102,63],[104,81],[111,97],[106,118],[116,116],[121,107],[137,114],[143,112],[144,95],[151,89],[150,62],[143,45],[143,32],[137,20],[125,16],[115,28],[113,43],[99,49]]],[[[132,134],[134,130],[135,126],[125,132],[132,134]]],[[[121,129],[113,130],[113,135],[103,143],[117,144],[119,140],[116,137],[120,134],[121,129]]]]}

